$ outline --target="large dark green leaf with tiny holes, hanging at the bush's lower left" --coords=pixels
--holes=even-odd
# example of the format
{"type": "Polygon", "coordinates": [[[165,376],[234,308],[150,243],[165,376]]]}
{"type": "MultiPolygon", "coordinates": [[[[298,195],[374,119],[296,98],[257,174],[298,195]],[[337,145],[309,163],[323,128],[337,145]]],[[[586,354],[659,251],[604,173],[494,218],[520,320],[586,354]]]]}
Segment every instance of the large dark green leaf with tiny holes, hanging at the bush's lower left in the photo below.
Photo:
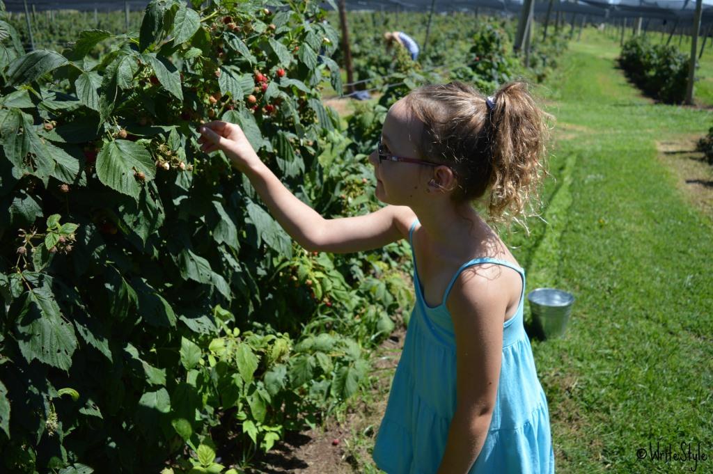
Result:
{"type": "Polygon", "coordinates": [[[26,361],[68,371],[77,339],[71,324],[65,321],[59,306],[46,287],[35,288],[23,295],[17,316],[17,344],[26,361]]]}

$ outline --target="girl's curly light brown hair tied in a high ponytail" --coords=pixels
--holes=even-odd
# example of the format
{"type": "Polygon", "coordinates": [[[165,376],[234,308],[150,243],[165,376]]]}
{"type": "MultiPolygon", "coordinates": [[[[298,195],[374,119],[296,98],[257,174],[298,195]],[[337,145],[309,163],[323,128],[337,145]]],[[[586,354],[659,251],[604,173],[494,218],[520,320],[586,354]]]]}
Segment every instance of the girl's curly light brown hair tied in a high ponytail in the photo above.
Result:
{"type": "Polygon", "coordinates": [[[540,186],[545,176],[547,120],[523,81],[506,83],[486,96],[460,81],[421,86],[406,96],[406,103],[424,124],[422,156],[451,165],[458,187],[451,199],[457,204],[480,200],[490,190],[488,221],[505,223],[508,230],[520,217],[539,215],[540,186]],[[530,213],[525,212],[529,205],[530,213]]]}

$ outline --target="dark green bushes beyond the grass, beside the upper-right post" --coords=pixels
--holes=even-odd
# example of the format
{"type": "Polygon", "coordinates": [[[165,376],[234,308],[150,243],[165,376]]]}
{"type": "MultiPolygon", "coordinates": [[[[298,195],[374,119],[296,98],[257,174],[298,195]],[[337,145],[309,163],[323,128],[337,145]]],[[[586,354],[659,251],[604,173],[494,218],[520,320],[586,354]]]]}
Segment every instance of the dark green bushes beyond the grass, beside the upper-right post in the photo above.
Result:
{"type": "Polygon", "coordinates": [[[682,103],[689,58],[675,46],[652,44],[645,36],[624,43],[621,68],[645,93],[665,103],[682,103]]]}

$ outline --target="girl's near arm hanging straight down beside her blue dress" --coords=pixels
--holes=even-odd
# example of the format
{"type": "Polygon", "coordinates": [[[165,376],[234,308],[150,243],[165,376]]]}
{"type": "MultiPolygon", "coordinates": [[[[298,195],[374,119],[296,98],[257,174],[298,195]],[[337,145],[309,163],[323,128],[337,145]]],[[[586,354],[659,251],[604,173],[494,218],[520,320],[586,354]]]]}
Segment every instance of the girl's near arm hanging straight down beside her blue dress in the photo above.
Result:
{"type": "Polygon", "coordinates": [[[453,284],[446,306],[456,335],[456,412],[438,474],[466,474],[483,448],[498,393],[503,320],[502,267],[478,265],[453,284]]]}

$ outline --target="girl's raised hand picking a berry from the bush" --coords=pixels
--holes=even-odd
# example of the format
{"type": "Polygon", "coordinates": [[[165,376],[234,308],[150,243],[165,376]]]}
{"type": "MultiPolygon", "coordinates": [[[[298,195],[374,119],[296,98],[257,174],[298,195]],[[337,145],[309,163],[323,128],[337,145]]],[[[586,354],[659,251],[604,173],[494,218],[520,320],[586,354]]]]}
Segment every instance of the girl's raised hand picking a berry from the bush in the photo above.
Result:
{"type": "Polygon", "coordinates": [[[247,141],[242,128],[235,123],[214,120],[200,125],[198,131],[201,135],[198,138],[201,151],[210,153],[222,150],[232,166],[240,172],[247,172],[253,165],[260,163],[260,158],[247,141]]]}

